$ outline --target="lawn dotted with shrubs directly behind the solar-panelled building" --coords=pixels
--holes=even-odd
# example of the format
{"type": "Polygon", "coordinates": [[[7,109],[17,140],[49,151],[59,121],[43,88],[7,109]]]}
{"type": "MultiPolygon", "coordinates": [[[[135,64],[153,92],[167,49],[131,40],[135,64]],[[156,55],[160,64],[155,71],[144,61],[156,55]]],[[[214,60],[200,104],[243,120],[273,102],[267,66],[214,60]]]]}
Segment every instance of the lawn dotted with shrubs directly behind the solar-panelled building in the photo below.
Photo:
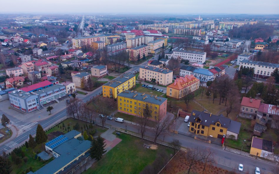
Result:
{"type": "Polygon", "coordinates": [[[68,132],[68,130],[66,130],[68,128],[68,126],[70,127],[71,130],[73,130],[73,127],[79,123],[79,126],[80,126],[80,129],[77,130],[77,131],[84,131],[84,127],[85,129],[87,130],[87,134],[90,134],[91,131],[96,131],[97,130],[97,133],[92,135],[92,136],[98,136],[100,134],[102,134],[103,132],[105,132],[107,129],[102,129],[101,127],[99,126],[92,126],[91,128],[89,127],[89,123],[86,123],[84,121],[81,121],[81,120],[76,120],[76,119],[72,119],[72,118],[69,118],[64,122],[64,129],[63,129],[63,124],[60,123],[58,126],[54,126],[52,129],[48,130],[46,133],[47,134],[50,134],[51,132],[55,132],[55,131],[60,131],[60,132],[63,132],[64,134],[66,134],[68,132]],[[61,126],[61,128],[60,128],[61,126]],[[87,126],[89,129],[87,129],[87,126]]]}

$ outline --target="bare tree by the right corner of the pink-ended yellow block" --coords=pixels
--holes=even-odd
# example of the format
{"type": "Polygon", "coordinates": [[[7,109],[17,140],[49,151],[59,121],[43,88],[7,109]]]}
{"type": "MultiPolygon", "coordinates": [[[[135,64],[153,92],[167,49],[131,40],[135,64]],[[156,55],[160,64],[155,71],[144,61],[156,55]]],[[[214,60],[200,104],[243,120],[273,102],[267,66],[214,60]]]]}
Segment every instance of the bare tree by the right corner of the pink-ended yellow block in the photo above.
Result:
{"type": "Polygon", "coordinates": [[[160,134],[168,129],[170,126],[170,116],[165,116],[162,112],[158,114],[158,116],[155,116],[155,129],[154,129],[154,143],[157,142],[157,138],[160,136],[160,134]]]}

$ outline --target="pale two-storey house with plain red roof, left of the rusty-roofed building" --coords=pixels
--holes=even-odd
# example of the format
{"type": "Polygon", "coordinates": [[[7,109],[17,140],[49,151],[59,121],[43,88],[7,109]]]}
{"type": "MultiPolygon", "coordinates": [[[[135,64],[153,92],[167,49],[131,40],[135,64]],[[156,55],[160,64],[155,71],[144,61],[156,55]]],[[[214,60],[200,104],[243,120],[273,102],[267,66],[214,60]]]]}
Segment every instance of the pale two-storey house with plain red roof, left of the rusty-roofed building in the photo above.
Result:
{"type": "Polygon", "coordinates": [[[260,99],[243,97],[239,116],[248,119],[256,119],[259,107],[260,107],[260,99]]]}

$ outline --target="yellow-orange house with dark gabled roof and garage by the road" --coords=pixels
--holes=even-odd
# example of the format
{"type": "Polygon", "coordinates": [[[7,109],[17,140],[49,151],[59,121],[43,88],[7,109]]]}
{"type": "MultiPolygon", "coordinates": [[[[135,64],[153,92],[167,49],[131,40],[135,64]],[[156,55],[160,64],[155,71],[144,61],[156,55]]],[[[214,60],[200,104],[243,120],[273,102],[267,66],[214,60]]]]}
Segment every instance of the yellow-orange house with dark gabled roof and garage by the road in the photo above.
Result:
{"type": "Polygon", "coordinates": [[[207,112],[192,110],[189,131],[202,136],[213,138],[238,138],[241,123],[224,117],[222,114],[213,115],[207,112]]]}

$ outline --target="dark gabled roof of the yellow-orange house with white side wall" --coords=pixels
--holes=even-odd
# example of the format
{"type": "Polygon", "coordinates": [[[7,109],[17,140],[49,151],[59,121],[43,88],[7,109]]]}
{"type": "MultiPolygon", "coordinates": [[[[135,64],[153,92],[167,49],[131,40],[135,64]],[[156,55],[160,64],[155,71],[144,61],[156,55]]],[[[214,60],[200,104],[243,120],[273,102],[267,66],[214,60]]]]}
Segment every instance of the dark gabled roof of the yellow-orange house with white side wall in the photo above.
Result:
{"type": "Polygon", "coordinates": [[[192,110],[192,114],[190,116],[189,121],[192,123],[196,122],[195,121],[196,118],[200,118],[201,125],[208,126],[208,127],[211,124],[214,125],[217,121],[219,121],[221,126],[224,128],[227,128],[228,131],[239,134],[241,123],[237,122],[237,121],[233,121],[229,118],[226,118],[222,114],[220,114],[218,116],[211,114],[211,116],[210,116],[209,113],[192,110]],[[195,115],[193,115],[193,113],[195,113],[195,115]]]}

